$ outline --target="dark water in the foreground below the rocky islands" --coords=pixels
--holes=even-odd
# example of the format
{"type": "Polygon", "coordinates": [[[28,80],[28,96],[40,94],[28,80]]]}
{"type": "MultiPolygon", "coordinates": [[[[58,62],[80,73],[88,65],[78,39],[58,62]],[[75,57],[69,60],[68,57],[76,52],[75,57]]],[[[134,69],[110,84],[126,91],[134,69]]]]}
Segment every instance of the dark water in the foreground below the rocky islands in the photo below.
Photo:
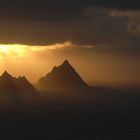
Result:
{"type": "Polygon", "coordinates": [[[41,92],[0,111],[0,140],[139,140],[139,91],[41,92]]]}

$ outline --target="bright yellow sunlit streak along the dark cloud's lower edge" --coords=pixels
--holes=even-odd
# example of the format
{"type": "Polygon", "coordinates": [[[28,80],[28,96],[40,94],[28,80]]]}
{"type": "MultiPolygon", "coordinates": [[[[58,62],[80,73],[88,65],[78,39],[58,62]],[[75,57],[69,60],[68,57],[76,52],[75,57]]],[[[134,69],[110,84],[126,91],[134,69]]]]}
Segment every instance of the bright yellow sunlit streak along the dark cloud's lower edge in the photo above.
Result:
{"type": "Polygon", "coordinates": [[[21,44],[0,44],[0,58],[22,58],[33,52],[42,52],[48,50],[61,49],[65,47],[72,47],[73,44],[70,41],[64,43],[56,43],[47,46],[30,46],[21,44]]]}

